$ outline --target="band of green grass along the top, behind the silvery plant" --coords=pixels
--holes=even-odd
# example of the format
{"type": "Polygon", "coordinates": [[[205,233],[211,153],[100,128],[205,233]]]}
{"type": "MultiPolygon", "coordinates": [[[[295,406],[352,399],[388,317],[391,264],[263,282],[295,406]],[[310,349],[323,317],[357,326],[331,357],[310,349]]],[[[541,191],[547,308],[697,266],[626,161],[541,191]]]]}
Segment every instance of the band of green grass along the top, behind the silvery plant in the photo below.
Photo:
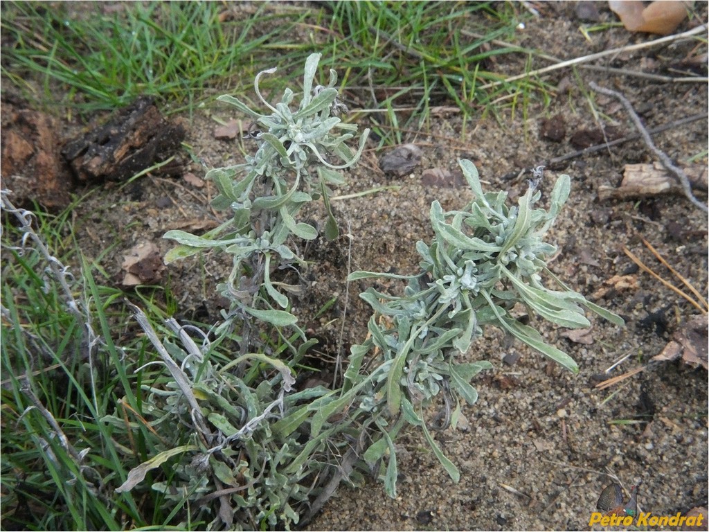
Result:
{"type": "Polygon", "coordinates": [[[217,91],[246,92],[274,55],[282,74],[264,89],[280,92],[314,50],[324,52],[322,68],[344,72],[347,103],[368,111],[386,144],[401,142],[402,128],[430,127],[437,105],[457,107],[467,121],[489,106],[525,104],[536,89],[544,94],[530,80],[479,89],[503,77],[494,57],[525,51],[493,42],[511,38],[519,21],[505,6],[362,1],[262,4],[240,13],[246,8],[216,2],[150,2],[76,13],[70,4],[17,2],[3,9],[3,76],[30,99],[82,113],[145,94],[168,112],[191,111],[217,91]]]}

